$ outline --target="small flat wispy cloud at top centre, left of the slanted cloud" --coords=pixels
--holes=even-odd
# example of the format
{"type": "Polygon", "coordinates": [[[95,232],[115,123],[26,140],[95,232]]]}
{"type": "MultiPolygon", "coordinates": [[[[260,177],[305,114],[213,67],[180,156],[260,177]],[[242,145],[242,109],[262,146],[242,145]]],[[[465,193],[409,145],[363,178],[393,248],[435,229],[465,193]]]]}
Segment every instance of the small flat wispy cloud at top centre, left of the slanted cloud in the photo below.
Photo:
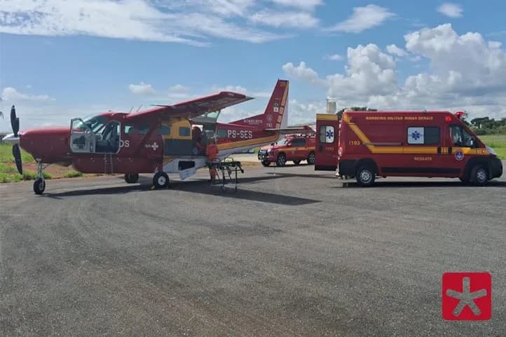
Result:
{"type": "Polygon", "coordinates": [[[250,20],[273,27],[312,28],[318,25],[318,19],[307,12],[261,11],[254,13],[250,20]]]}

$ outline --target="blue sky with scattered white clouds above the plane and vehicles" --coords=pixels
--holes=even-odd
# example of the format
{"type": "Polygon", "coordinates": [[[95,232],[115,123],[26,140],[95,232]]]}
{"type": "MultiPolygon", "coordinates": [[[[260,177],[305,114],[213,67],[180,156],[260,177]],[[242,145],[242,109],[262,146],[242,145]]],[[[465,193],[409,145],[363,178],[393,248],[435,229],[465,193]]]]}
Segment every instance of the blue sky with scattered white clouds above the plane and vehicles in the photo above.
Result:
{"type": "Polygon", "coordinates": [[[338,106],[506,117],[503,1],[0,0],[0,130],[219,90],[264,109],[291,81],[292,123],[338,106]],[[486,6],[485,6],[486,5],[486,6]]]}

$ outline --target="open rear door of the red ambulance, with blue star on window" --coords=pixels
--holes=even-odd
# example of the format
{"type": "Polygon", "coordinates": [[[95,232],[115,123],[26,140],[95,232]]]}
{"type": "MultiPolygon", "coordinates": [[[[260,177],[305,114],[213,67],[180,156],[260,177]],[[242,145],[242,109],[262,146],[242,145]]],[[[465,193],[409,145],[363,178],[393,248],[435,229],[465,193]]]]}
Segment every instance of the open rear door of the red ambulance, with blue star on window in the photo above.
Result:
{"type": "Polygon", "coordinates": [[[334,114],[316,115],[315,170],[335,171],[339,141],[339,118],[334,114]]]}

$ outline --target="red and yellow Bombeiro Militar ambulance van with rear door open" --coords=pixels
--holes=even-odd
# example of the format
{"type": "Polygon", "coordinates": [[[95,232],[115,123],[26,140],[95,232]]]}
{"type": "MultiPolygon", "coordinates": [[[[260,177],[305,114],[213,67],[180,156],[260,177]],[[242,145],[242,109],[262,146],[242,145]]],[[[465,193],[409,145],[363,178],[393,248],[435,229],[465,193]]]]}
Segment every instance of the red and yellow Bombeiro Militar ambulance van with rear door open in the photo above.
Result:
{"type": "Polygon", "coordinates": [[[345,111],[317,114],[315,170],[371,186],[376,177],[459,178],[477,186],[502,163],[460,120],[462,112],[345,111]]]}

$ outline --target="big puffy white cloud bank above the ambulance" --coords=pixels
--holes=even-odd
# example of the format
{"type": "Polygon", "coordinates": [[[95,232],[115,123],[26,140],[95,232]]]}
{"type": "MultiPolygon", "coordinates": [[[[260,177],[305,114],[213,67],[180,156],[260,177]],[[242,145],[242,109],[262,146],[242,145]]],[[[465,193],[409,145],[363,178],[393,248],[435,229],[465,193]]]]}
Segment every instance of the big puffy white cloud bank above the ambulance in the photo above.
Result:
{"type": "Polygon", "coordinates": [[[348,48],[344,73],[322,78],[306,62],[288,62],[282,69],[290,78],[327,88],[341,106],[462,109],[471,116],[506,117],[506,53],[500,43],[479,33],[458,35],[450,24],[411,32],[404,40],[406,51],[391,45],[389,53],[430,62],[430,71],[408,76],[404,83],[397,79],[395,58],[374,43],[348,48]]]}

